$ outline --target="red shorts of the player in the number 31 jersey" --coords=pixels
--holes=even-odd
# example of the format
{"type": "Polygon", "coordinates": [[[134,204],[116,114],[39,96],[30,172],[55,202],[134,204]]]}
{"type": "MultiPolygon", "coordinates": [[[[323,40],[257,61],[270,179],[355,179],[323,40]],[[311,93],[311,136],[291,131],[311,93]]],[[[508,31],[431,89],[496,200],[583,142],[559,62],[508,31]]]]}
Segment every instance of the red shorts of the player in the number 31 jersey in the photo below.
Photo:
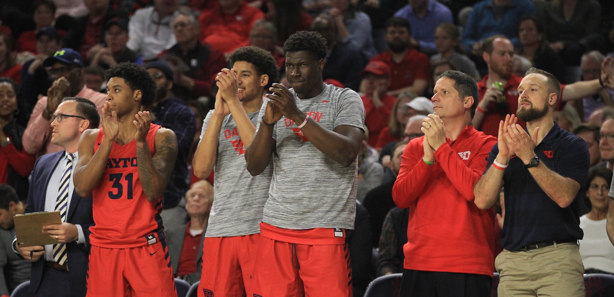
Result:
{"type": "Polygon", "coordinates": [[[87,296],[176,297],[168,249],[160,241],[126,249],[92,245],[87,296]]]}

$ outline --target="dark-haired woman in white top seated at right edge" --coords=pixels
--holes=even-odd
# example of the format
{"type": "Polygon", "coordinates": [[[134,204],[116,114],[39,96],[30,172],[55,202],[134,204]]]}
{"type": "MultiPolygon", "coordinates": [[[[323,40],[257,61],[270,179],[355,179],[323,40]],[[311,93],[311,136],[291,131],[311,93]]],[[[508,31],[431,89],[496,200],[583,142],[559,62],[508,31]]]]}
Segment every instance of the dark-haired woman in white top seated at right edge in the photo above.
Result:
{"type": "Polygon", "coordinates": [[[605,167],[591,168],[586,177],[585,203],[591,211],[580,217],[584,238],[580,241],[580,255],[585,273],[614,274],[614,245],[605,233],[608,214],[607,191],[610,190],[612,171],[605,167]]]}

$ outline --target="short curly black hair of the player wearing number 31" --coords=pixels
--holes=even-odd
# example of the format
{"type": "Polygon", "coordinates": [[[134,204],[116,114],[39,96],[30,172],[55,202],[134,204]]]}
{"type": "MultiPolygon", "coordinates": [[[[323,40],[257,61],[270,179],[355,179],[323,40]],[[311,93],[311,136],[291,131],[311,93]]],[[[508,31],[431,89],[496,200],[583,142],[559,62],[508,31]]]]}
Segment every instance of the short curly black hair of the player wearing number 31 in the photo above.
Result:
{"type": "Polygon", "coordinates": [[[119,63],[105,72],[107,80],[111,77],[119,77],[126,82],[126,85],[130,87],[130,90],[141,90],[143,95],[141,97],[141,104],[149,106],[153,103],[156,93],[156,84],[153,77],[145,67],[130,62],[119,63]]]}

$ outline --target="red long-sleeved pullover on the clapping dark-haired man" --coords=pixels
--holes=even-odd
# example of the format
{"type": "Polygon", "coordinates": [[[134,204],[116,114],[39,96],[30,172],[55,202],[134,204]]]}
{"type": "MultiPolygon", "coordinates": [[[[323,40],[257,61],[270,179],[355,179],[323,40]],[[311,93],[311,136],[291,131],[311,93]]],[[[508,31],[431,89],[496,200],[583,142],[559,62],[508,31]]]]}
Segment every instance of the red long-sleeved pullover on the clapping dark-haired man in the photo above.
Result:
{"type": "Polygon", "coordinates": [[[392,188],[395,204],[410,207],[403,268],[492,277],[494,210],[475,206],[473,185],[497,139],[467,126],[454,142],[446,138],[429,166],[422,137],[405,147],[392,188]]]}

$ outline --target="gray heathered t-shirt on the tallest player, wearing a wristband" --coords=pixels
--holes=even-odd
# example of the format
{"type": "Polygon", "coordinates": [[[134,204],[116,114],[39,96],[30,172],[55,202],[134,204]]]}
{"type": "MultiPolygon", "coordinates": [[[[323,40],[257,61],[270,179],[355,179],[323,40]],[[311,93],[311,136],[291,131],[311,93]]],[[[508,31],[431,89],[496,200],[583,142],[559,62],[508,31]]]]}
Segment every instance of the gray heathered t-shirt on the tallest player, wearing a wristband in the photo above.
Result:
{"type": "MultiPolygon", "coordinates": [[[[349,125],[362,129],[365,107],[355,91],[327,85],[320,95],[302,100],[290,91],[295,94],[298,109],[324,128],[349,125]]],[[[273,179],[263,222],[292,230],[354,229],[357,159],[347,168],[336,163],[311,144],[298,129],[300,124],[282,117],[274,126],[276,153],[272,156],[273,179]]]]}

